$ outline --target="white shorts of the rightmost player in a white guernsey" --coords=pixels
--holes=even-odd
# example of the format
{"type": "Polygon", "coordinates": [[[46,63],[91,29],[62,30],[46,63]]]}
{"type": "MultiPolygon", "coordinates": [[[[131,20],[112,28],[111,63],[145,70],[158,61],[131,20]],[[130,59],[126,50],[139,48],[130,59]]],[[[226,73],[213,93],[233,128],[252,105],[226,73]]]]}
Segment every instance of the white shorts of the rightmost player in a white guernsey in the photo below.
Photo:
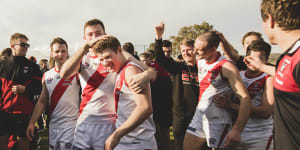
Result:
{"type": "Polygon", "coordinates": [[[251,140],[242,141],[233,150],[273,150],[273,138],[270,137],[257,137],[251,140]]]}

